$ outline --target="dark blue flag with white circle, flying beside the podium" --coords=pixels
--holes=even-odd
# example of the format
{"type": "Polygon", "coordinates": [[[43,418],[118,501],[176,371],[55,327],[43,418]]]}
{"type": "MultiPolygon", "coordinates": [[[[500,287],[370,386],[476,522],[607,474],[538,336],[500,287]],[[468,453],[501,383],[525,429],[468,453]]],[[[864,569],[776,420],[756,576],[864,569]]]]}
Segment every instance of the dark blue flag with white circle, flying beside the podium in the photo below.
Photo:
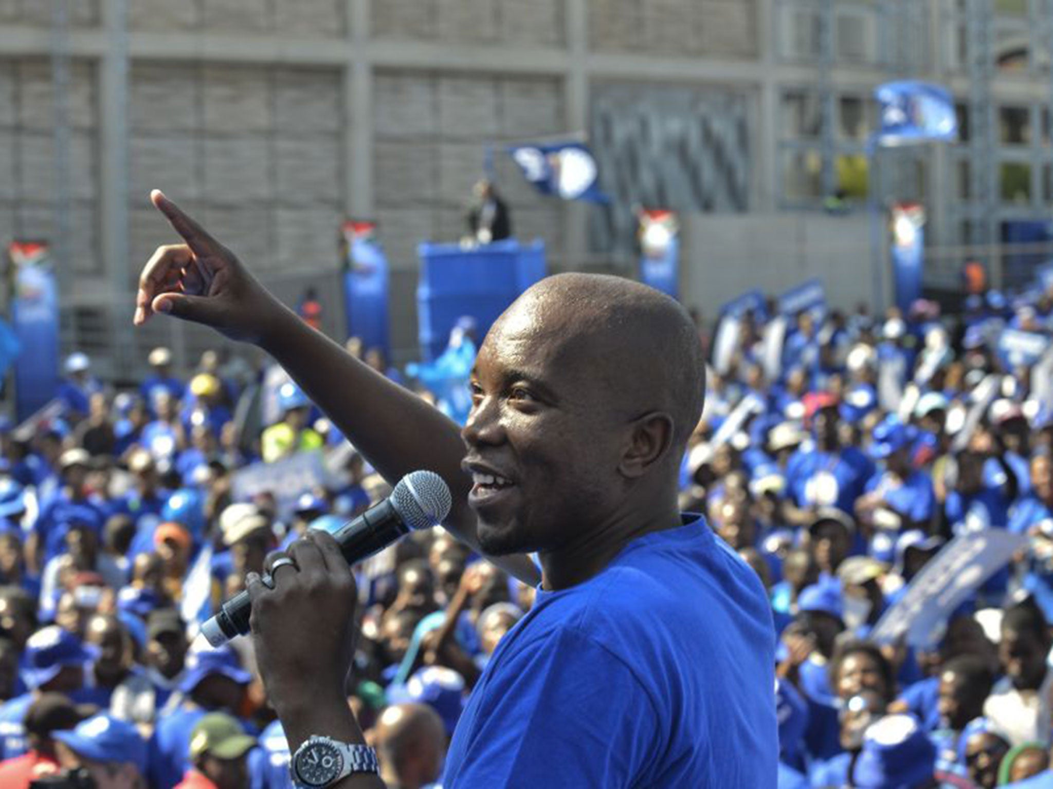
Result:
{"type": "Polygon", "coordinates": [[[513,145],[508,151],[542,195],[593,203],[610,201],[599,188],[596,159],[582,142],[513,145]]]}

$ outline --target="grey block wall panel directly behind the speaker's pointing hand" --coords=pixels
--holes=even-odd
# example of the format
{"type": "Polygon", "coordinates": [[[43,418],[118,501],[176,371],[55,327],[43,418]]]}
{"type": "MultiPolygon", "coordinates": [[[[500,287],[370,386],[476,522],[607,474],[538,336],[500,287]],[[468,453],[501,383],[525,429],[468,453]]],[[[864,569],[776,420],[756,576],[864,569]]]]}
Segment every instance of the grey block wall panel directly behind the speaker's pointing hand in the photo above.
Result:
{"type": "Polygon", "coordinates": [[[171,236],[146,199],[160,187],[256,270],[334,266],[344,202],[340,79],[327,68],[134,65],[132,260],[171,236]]]}

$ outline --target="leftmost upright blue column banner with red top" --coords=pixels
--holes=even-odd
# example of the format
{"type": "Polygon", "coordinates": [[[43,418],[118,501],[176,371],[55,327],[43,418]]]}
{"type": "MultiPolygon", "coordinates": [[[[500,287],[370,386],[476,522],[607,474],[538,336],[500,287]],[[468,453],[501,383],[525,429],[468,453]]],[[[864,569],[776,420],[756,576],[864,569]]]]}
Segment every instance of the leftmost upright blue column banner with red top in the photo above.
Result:
{"type": "Polygon", "coordinates": [[[58,391],[59,295],[46,243],[14,241],[7,254],[15,267],[12,324],[21,347],[15,362],[15,411],[21,421],[58,391]]]}

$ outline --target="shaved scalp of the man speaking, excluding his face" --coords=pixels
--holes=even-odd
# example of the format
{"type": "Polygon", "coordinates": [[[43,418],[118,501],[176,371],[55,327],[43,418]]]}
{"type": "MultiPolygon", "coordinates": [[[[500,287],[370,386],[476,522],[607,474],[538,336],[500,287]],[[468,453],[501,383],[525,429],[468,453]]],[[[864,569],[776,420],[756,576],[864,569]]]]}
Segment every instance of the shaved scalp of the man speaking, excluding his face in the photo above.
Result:
{"type": "MultiPolygon", "coordinates": [[[[603,387],[604,404],[631,419],[670,414],[673,445],[687,445],[702,412],[706,363],[688,311],[652,287],[620,277],[561,274],[530,287],[488,335],[551,348],[603,387]]],[[[679,462],[679,452],[675,452],[679,462]]]]}

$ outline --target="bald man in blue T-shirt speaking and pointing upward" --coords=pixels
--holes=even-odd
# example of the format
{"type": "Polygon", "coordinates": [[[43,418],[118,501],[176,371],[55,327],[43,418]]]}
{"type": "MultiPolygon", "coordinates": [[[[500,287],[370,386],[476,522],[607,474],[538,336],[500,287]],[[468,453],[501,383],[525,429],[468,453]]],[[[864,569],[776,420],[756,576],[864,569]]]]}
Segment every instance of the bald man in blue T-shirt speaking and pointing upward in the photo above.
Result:
{"type": "MultiPolygon", "coordinates": [[[[183,243],[159,247],[135,323],[162,312],[256,343],[389,481],[450,484],[444,524],[521,578],[534,608],[472,693],[443,786],[776,784],[774,633],[753,571],[676,506],[702,408],[697,335],[672,299],[628,280],[562,275],[491,328],[464,429],[345,355],[267,292],[161,193],[183,243]]],[[[381,787],[344,701],[354,580],[312,532],[251,575],[260,672],[305,786],[381,787]],[[278,566],[276,566],[276,564],[278,566]],[[337,756],[336,754],[340,754],[337,756]]]]}

